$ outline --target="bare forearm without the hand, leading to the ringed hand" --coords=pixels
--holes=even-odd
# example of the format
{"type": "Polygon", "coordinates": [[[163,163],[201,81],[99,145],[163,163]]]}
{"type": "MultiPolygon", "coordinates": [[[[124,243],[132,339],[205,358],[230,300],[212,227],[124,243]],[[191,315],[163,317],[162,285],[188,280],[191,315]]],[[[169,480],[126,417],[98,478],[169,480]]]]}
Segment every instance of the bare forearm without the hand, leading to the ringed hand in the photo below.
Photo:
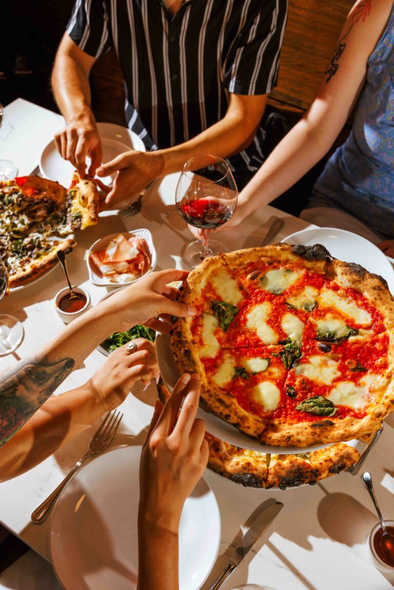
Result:
{"type": "Polygon", "coordinates": [[[103,414],[88,385],[48,399],[6,445],[0,448],[0,481],[28,471],[76,437],[103,414]]]}

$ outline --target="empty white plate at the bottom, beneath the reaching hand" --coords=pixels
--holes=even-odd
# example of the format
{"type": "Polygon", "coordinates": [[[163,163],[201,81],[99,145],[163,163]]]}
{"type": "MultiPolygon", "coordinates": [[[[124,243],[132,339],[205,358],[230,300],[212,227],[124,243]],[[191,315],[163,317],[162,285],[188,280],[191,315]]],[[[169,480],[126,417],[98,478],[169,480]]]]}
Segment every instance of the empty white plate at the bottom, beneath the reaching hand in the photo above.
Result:
{"type": "MultiPolygon", "coordinates": [[[[61,494],[50,525],[50,551],[66,590],[135,590],[140,455],[141,447],[102,454],[79,471],[61,494]]],[[[219,544],[219,507],[209,484],[201,479],[181,516],[181,590],[201,588],[219,544]]]]}

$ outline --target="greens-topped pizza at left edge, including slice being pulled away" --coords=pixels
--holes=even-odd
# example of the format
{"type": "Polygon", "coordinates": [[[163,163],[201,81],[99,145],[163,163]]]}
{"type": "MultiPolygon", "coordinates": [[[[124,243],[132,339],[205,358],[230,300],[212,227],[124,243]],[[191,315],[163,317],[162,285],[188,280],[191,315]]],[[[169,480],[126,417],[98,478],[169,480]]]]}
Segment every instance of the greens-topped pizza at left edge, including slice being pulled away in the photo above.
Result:
{"type": "Polygon", "coordinates": [[[61,239],[97,223],[99,197],[92,179],[74,175],[67,191],[39,176],[0,182],[0,259],[9,287],[39,276],[57,263],[57,252],[75,242],[61,239]]]}

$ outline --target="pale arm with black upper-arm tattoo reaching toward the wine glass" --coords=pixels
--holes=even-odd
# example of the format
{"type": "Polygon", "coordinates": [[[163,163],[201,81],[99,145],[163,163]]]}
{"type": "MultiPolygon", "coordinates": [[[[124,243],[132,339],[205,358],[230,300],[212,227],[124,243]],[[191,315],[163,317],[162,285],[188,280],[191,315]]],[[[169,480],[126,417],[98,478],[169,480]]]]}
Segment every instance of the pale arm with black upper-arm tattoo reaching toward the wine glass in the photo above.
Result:
{"type": "MultiPolygon", "coordinates": [[[[359,0],[341,31],[307,113],[276,146],[238,197],[227,231],[294,185],[333,145],[363,87],[367,60],[388,21],[392,0],[359,0]]],[[[302,83],[302,80],[300,80],[302,83]]]]}

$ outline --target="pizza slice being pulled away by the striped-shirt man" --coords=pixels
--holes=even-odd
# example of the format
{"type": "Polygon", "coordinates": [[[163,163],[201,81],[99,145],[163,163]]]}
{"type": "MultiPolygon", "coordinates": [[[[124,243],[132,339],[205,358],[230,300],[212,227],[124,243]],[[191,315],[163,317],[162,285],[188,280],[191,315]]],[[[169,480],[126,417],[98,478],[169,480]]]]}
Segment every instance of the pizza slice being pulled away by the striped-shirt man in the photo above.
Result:
{"type": "Polygon", "coordinates": [[[92,176],[80,178],[74,172],[73,181],[68,192],[67,221],[71,230],[84,230],[99,221],[99,192],[92,176]]]}

